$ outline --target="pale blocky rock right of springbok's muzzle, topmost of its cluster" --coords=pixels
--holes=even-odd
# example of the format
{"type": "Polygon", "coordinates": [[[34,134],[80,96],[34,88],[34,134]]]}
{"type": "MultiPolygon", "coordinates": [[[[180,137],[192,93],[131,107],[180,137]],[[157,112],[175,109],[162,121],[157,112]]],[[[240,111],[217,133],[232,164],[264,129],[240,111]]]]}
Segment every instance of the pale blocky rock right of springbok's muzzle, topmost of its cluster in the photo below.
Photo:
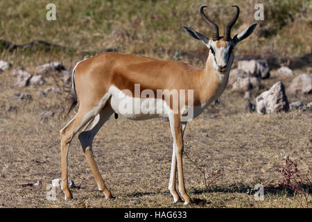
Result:
{"type": "Polygon", "coordinates": [[[238,62],[238,68],[254,77],[270,77],[270,68],[266,60],[241,60],[238,62]]]}

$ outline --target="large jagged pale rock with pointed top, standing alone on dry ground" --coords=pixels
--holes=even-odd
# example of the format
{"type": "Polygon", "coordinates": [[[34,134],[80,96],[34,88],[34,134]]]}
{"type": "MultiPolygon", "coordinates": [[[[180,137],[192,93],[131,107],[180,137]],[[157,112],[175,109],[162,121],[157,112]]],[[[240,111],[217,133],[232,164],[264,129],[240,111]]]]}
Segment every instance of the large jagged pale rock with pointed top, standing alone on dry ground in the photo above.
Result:
{"type": "Polygon", "coordinates": [[[289,110],[285,87],[281,82],[275,83],[268,91],[257,96],[256,103],[259,114],[287,112],[289,110]]]}

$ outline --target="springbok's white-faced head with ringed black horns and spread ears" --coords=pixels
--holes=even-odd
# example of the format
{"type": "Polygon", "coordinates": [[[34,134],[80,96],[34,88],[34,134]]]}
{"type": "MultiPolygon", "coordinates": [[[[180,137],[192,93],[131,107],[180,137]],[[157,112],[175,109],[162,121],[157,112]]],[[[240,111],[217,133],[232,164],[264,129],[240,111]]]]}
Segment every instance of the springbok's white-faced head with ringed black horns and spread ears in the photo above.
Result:
{"type": "Polygon", "coordinates": [[[220,37],[218,26],[204,13],[204,8],[206,7],[207,6],[202,6],[200,8],[200,15],[202,15],[205,22],[207,22],[207,24],[212,28],[212,39],[205,37],[187,26],[183,26],[183,29],[191,35],[191,37],[202,41],[210,49],[211,53],[209,54],[211,54],[211,56],[209,55],[209,58],[212,60],[214,69],[216,69],[220,74],[225,74],[232,65],[234,47],[238,42],[251,35],[257,24],[252,24],[246,28],[245,31],[239,33],[238,35],[234,35],[234,37],[231,38],[231,29],[239,17],[239,6],[232,6],[236,8],[236,13],[231,19],[229,19],[225,25],[224,34],[220,37]]]}

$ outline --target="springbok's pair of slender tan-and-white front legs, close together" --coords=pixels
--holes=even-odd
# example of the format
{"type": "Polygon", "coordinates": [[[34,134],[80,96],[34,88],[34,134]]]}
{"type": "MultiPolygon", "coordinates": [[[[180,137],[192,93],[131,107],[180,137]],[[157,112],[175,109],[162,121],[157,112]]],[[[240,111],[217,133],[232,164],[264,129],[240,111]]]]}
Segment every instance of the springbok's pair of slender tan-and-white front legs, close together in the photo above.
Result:
{"type": "MultiPolygon", "coordinates": [[[[175,155],[175,159],[173,159],[173,164],[171,167],[171,184],[169,184],[169,189],[174,188],[173,182],[175,181],[175,161],[177,165],[177,178],[179,181],[179,192],[184,198],[184,205],[188,205],[190,203],[191,198],[189,198],[189,195],[187,195],[187,192],[185,191],[184,187],[184,176],[183,176],[183,164],[182,164],[182,154],[183,154],[183,132],[185,125],[182,130],[182,126],[180,123],[180,115],[179,114],[169,114],[169,121],[170,121],[170,127],[171,127],[171,133],[173,136],[173,157],[175,155]],[[173,180],[172,180],[173,179],[173,180]],[[171,186],[170,186],[171,185],[171,186]]],[[[171,189],[173,191],[173,199],[177,200],[177,198],[174,195],[175,189],[171,189]]]]}

